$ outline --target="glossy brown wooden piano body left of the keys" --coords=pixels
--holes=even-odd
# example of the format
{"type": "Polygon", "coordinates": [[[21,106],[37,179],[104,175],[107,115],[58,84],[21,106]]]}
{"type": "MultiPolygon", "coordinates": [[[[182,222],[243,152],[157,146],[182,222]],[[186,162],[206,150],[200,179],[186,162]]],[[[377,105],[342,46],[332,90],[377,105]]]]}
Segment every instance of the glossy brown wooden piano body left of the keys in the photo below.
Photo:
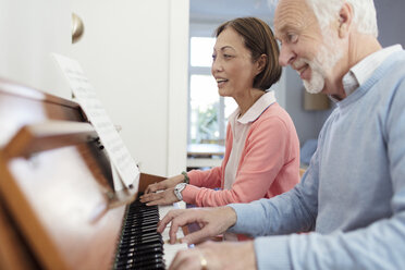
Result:
{"type": "MultiPolygon", "coordinates": [[[[118,268],[137,192],[113,191],[77,103],[0,79],[0,269],[118,268]]],[[[161,179],[142,174],[139,192],[161,179]]],[[[127,234],[151,241],[150,228],[127,234]]]]}

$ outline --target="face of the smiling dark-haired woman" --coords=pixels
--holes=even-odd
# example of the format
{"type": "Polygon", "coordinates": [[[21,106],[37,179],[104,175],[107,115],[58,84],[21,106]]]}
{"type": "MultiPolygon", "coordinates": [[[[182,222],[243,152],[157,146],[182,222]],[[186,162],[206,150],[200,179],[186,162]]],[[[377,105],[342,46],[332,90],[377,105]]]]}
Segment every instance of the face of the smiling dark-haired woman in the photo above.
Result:
{"type": "Polygon", "coordinates": [[[211,73],[217,81],[219,95],[237,99],[253,88],[258,74],[250,51],[232,27],[225,28],[213,47],[211,73]]]}

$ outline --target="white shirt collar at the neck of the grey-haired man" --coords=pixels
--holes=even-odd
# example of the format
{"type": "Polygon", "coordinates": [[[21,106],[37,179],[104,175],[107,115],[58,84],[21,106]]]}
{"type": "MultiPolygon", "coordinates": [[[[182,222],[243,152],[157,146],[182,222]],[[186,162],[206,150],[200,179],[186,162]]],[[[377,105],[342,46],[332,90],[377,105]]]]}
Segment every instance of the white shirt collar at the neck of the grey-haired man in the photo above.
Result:
{"type": "Polygon", "coordinates": [[[401,45],[394,45],[384,49],[378,50],[375,53],[363,59],[360,62],[352,66],[352,69],[343,76],[342,83],[346,96],[354,93],[363,85],[380,64],[395,51],[402,50],[401,45]]]}

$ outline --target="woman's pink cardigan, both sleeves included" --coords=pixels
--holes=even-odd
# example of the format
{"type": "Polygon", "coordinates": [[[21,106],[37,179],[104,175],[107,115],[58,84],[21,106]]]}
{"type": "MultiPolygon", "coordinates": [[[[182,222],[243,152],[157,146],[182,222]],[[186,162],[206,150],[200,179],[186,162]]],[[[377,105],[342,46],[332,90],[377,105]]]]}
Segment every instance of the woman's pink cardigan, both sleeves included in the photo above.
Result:
{"type": "Polygon", "coordinates": [[[222,165],[187,173],[191,185],[182,192],[185,202],[199,207],[249,202],[282,194],[299,182],[299,142],[295,126],[289,113],[274,102],[250,125],[232,189],[213,191],[223,188],[233,142],[231,130],[228,124],[222,165]]]}

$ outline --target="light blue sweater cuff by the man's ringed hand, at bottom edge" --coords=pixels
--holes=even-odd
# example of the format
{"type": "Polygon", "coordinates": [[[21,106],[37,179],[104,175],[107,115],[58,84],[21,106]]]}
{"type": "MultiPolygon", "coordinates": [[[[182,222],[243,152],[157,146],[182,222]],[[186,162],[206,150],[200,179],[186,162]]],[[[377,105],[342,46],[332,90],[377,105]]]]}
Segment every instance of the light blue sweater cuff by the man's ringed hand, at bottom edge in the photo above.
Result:
{"type": "Polygon", "coordinates": [[[289,236],[258,237],[254,241],[257,269],[293,269],[289,236]]]}

